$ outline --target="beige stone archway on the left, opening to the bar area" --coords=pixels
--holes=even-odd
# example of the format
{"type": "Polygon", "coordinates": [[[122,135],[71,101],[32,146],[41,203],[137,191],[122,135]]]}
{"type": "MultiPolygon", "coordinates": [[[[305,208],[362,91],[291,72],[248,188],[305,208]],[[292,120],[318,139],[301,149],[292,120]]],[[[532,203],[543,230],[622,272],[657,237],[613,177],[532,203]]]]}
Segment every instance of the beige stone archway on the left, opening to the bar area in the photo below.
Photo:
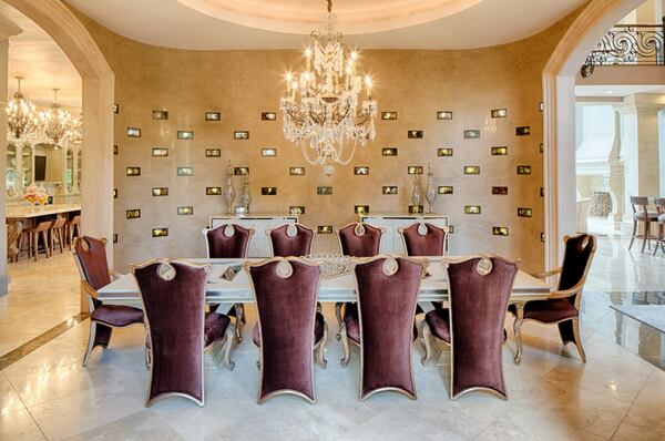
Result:
{"type": "MultiPolygon", "coordinates": [[[[113,98],[115,76],[85,27],[60,0],[4,0],[62,48],[83,82],[81,211],[84,234],[113,236],[113,98]]],[[[4,213],[2,214],[4,216],[4,213]]],[[[111,242],[111,240],[110,240],[111,242]]],[[[108,247],[113,261],[113,247],[108,247]]]]}

